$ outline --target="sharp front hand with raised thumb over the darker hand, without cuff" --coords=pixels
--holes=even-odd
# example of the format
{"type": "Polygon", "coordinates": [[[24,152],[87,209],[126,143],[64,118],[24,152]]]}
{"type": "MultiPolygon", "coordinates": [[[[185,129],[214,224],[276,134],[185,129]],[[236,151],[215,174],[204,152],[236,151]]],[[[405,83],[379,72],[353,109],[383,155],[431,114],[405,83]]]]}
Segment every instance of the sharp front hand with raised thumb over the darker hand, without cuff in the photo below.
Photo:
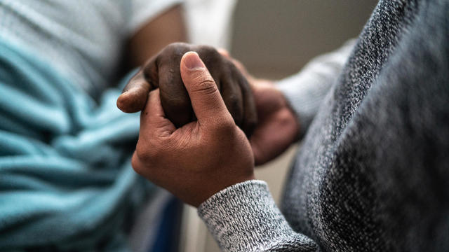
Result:
{"type": "Polygon", "coordinates": [[[162,109],[159,89],[150,92],[132,164],[138,174],[198,207],[220,190],[254,179],[254,158],[195,52],[182,57],[180,73],[197,120],[176,128],[162,109]]]}

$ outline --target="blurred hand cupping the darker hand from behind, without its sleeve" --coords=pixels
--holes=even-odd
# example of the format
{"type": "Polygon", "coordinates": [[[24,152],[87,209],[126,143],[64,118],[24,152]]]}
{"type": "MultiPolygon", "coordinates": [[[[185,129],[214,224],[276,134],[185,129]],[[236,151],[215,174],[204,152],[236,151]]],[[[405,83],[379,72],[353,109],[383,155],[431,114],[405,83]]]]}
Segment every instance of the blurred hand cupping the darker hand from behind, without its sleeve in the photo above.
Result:
{"type": "Polygon", "coordinates": [[[227,51],[220,50],[220,54],[234,62],[253,90],[258,122],[250,137],[250,144],[255,165],[263,165],[286,151],[297,140],[300,124],[286,98],[271,81],[251,76],[243,64],[232,59],[227,51]]]}

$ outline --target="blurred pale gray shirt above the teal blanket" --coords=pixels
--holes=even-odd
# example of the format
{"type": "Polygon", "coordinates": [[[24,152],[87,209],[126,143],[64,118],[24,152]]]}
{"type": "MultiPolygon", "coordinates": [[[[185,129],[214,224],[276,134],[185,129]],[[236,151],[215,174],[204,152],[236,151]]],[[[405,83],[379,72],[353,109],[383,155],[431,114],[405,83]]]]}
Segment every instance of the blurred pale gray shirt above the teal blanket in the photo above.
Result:
{"type": "Polygon", "coordinates": [[[127,40],[182,0],[0,1],[0,38],[52,63],[93,97],[116,83],[127,40]]]}

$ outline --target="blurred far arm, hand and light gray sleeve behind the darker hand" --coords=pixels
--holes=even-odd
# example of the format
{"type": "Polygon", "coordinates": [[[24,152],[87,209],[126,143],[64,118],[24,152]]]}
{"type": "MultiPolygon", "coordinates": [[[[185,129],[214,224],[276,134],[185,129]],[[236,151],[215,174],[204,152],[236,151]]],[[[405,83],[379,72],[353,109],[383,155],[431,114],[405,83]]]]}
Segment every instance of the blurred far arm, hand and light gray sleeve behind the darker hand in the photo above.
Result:
{"type": "Polygon", "coordinates": [[[355,41],[335,52],[316,57],[300,73],[279,81],[257,79],[243,64],[229,57],[248,79],[257,111],[257,124],[250,144],[255,165],[263,165],[283,153],[309,127],[316,111],[339,76],[355,41]],[[275,133],[275,134],[274,134],[275,133]]]}

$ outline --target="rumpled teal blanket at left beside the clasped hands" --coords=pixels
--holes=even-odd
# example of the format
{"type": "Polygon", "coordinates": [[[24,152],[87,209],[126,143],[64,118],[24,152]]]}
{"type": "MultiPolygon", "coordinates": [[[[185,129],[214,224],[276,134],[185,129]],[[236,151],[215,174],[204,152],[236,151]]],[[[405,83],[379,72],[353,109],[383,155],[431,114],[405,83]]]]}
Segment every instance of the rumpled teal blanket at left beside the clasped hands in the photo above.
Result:
{"type": "Polygon", "coordinates": [[[0,40],[0,94],[0,251],[128,250],[121,227],[149,184],[130,167],[139,118],[116,109],[120,91],[94,101],[0,40]]]}

